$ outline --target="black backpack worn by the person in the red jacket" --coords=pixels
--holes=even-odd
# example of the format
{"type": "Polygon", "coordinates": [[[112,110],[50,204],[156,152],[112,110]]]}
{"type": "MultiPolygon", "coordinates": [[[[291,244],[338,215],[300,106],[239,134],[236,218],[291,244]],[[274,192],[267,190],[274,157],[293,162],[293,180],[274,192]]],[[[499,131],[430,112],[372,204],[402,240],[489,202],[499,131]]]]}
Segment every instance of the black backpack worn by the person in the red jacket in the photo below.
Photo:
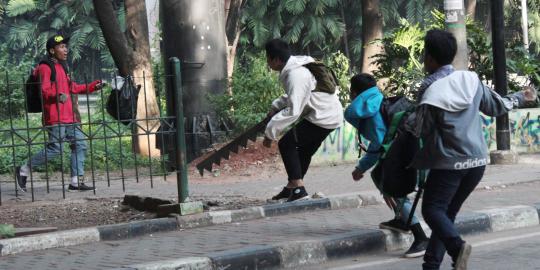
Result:
{"type": "MultiPolygon", "coordinates": [[[[51,69],[51,82],[56,81],[56,68],[51,60],[42,60],[39,65],[46,64],[51,69]]],[[[41,82],[39,74],[32,72],[26,79],[24,84],[24,92],[26,94],[26,109],[29,113],[43,112],[43,97],[41,95],[41,82]]]]}

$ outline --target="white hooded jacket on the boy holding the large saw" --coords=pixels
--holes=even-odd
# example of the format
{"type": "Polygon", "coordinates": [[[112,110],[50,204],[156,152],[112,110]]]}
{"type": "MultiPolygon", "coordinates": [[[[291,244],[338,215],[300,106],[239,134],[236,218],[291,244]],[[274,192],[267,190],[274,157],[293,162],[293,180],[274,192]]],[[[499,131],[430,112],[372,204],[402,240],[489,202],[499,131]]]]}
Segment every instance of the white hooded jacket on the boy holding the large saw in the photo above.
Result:
{"type": "Polygon", "coordinates": [[[279,75],[285,94],[272,102],[273,110],[280,110],[266,126],[265,135],[278,140],[299,119],[326,129],[335,129],[343,123],[343,107],[334,94],[312,92],[317,81],[304,67],[314,62],[309,56],[291,56],[279,75]]]}

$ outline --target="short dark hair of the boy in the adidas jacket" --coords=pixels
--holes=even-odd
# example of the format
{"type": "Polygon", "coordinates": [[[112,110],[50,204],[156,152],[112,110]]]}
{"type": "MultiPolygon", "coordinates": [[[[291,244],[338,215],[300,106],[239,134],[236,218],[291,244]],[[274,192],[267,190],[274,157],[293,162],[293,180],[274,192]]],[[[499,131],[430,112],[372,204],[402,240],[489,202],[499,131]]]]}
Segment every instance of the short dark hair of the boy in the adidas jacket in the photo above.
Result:
{"type": "Polygon", "coordinates": [[[448,31],[429,30],[424,39],[424,50],[439,65],[451,64],[457,53],[456,37],[448,31]]]}

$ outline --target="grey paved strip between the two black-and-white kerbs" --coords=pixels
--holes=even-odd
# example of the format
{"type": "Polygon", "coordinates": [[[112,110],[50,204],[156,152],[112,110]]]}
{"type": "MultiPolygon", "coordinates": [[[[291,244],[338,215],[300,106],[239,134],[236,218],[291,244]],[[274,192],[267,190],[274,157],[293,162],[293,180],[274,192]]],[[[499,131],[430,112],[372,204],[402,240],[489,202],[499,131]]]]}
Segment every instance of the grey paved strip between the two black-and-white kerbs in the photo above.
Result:
{"type": "MultiPolygon", "coordinates": [[[[540,201],[540,182],[478,190],[464,211],[540,201]]],[[[334,234],[374,229],[391,218],[385,206],[316,211],[229,225],[176,231],[140,239],[100,242],[2,257],[0,269],[107,269],[147,261],[204,256],[215,252],[287,241],[316,240],[334,234]]]]}

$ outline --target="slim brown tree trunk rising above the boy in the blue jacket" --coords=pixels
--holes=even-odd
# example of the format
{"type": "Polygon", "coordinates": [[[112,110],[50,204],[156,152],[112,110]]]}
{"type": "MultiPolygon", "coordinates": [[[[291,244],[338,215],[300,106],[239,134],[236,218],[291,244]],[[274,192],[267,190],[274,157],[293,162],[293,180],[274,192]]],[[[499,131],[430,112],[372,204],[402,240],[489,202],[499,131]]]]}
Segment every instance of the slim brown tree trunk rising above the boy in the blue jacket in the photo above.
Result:
{"type": "Polygon", "coordinates": [[[362,67],[364,73],[373,73],[377,65],[372,57],[383,52],[380,44],[373,41],[383,37],[383,19],[379,0],[362,0],[362,67]]]}

